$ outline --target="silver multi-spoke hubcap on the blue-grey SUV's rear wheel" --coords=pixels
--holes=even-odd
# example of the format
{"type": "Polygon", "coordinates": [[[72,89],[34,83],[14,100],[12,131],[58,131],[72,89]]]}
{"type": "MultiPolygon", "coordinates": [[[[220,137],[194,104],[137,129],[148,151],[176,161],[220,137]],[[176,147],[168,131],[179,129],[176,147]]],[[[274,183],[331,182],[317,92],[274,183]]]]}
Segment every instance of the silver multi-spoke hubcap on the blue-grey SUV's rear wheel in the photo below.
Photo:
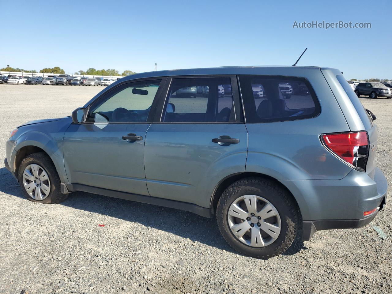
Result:
{"type": "Polygon", "coordinates": [[[234,236],[252,247],[270,245],[280,234],[279,212],[272,203],[260,196],[238,197],[230,205],[227,220],[234,236]]]}

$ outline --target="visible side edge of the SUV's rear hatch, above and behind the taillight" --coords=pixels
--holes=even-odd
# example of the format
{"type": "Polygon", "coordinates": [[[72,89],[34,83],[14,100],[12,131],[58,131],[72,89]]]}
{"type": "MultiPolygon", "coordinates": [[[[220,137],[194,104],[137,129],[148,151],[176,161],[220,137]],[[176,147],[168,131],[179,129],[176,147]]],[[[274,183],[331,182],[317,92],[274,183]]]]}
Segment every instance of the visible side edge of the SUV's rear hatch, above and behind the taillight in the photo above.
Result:
{"type": "Polygon", "coordinates": [[[378,129],[369,112],[371,109],[368,111],[363,107],[358,96],[339,70],[321,69],[321,71],[339,103],[350,131],[367,131],[369,147],[365,171],[370,178],[374,179],[378,129]]]}

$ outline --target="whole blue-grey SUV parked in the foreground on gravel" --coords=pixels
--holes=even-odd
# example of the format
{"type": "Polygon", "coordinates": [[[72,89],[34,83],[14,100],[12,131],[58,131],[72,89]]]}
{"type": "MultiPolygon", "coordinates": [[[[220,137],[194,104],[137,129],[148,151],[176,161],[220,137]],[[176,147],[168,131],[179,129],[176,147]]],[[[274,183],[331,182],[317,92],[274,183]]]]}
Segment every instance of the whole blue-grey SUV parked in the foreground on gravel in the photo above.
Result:
{"type": "Polygon", "coordinates": [[[383,208],[374,119],[338,69],[140,73],[71,117],[15,129],[5,166],[30,201],[85,191],[216,217],[230,246],[266,259],[300,227],[307,241],[367,225],[383,208]]]}

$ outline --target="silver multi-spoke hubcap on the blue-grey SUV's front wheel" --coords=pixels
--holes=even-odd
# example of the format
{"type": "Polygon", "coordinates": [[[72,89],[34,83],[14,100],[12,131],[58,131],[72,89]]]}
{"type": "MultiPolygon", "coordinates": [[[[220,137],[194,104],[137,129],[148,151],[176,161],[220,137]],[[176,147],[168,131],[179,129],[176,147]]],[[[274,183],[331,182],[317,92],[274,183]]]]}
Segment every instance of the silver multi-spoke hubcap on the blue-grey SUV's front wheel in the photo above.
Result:
{"type": "Polygon", "coordinates": [[[44,200],[50,193],[49,177],[38,164],[30,164],[25,168],[23,186],[27,194],[35,200],[44,200]]]}

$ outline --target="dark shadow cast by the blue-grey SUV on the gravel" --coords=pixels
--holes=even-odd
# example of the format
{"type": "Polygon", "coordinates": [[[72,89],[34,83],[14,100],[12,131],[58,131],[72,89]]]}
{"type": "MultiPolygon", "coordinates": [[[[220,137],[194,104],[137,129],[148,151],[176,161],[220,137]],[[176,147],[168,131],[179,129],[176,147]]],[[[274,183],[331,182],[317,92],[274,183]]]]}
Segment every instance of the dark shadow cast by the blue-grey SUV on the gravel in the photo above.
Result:
{"type": "MultiPolygon", "coordinates": [[[[0,176],[3,179],[0,184],[0,192],[24,198],[17,181],[7,169],[0,169],[0,176]]],[[[187,211],[86,192],[71,193],[61,205],[125,221],[137,222],[146,227],[163,230],[182,238],[189,238],[194,242],[198,241],[208,246],[239,254],[223,239],[215,218],[203,218],[187,211]]],[[[300,233],[293,245],[283,255],[296,254],[300,250],[306,249],[301,239],[302,234],[300,233]]]]}

